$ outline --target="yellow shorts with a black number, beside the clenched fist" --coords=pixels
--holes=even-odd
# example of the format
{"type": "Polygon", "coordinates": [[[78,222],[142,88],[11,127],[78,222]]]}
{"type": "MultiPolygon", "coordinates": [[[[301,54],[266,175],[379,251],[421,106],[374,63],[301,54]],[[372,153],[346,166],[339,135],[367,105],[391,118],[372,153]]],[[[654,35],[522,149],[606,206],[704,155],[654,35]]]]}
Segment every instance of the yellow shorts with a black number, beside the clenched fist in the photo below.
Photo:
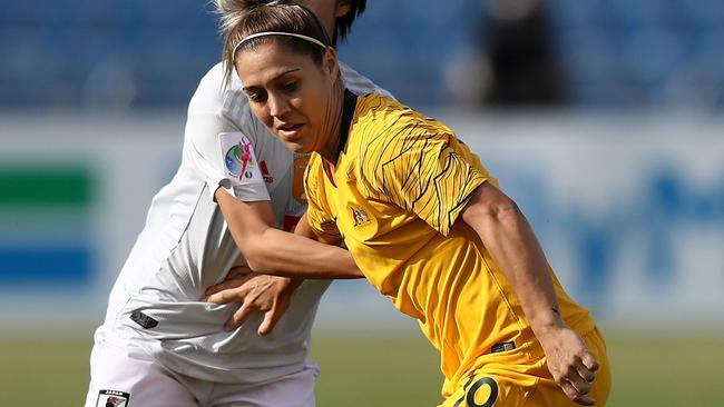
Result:
{"type": "MultiPolygon", "coordinates": [[[[596,381],[589,395],[596,406],[605,406],[610,393],[610,365],[606,343],[594,328],[584,341],[599,363],[596,381]]],[[[501,360],[502,361],[502,360],[501,360]]],[[[579,406],[558,387],[546,364],[546,358],[531,364],[487,363],[476,370],[463,386],[446,399],[440,407],[518,407],[518,406],[579,406]]]]}

